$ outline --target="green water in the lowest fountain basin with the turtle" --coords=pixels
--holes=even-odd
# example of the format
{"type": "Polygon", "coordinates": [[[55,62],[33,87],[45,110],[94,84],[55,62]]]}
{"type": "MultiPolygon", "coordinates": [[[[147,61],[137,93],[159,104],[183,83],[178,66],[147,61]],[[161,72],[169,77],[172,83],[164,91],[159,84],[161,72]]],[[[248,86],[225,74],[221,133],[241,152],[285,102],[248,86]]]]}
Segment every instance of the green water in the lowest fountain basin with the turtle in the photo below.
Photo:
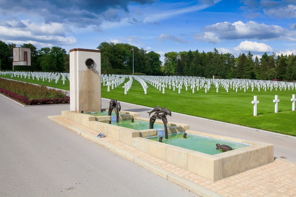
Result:
{"type": "MultiPolygon", "coordinates": [[[[239,149],[246,146],[250,146],[249,144],[240,144],[233,141],[225,141],[217,138],[210,138],[205,136],[199,136],[187,133],[186,138],[183,137],[184,133],[173,133],[168,135],[168,139],[165,139],[163,136],[162,143],[170,144],[173,146],[182,147],[185,149],[203,152],[206,154],[214,155],[221,153],[222,150],[216,150],[216,144],[225,144],[230,146],[232,149],[239,149]]],[[[147,139],[151,139],[154,141],[158,141],[161,136],[153,136],[147,137],[147,139]]]]}

